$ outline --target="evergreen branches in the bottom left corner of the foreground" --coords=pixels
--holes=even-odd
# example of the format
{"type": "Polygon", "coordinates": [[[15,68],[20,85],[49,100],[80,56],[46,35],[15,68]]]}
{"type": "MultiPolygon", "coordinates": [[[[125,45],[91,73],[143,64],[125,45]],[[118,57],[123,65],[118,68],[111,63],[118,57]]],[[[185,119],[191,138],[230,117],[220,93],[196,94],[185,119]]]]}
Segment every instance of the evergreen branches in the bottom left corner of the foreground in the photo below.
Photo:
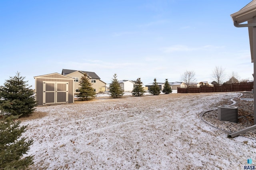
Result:
{"type": "Polygon", "coordinates": [[[0,169],[25,169],[33,164],[33,156],[23,157],[30,149],[33,140],[21,138],[27,126],[20,127],[20,121],[14,121],[18,115],[0,116],[0,169]]]}

